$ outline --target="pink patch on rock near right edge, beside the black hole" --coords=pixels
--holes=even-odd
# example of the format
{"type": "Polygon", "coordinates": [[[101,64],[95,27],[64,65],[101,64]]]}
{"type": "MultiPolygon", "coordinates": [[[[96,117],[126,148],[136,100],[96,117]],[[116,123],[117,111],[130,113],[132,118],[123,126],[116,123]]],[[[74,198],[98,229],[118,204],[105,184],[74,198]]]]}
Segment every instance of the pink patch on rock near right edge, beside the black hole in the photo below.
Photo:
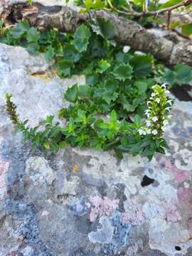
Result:
{"type": "Polygon", "coordinates": [[[164,164],[166,169],[169,169],[172,171],[172,173],[175,176],[174,182],[176,184],[179,184],[179,183],[182,183],[183,181],[188,180],[189,178],[188,171],[183,171],[181,169],[178,169],[174,164],[171,164],[171,161],[169,159],[162,157],[160,163],[164,164]]]}

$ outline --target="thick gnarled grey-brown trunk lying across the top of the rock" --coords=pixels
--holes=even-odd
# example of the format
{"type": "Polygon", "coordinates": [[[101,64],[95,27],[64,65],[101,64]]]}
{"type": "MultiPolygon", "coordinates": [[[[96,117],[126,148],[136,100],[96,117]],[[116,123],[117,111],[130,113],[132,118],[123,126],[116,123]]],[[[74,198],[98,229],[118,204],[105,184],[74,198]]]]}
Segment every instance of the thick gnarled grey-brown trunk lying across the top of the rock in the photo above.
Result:
{"type": "Polygon", "coordinates": [[[74,32],[81,23],[97,23],[105,18],[114,26],[115,40],[129,45],[135,50],[153,54],[168,65],[186,63],[192,66],[192,43],[189,40],[174,43],[166,38],[146,31],[137,22],[115,16],[108,11],[90,11],[80,14],[68,6],[43,6],[41,4],[14,4],[4,9],[1,18],[14,23],[22,18],[38,29],[58,28],[60,31],[74,32]]]}

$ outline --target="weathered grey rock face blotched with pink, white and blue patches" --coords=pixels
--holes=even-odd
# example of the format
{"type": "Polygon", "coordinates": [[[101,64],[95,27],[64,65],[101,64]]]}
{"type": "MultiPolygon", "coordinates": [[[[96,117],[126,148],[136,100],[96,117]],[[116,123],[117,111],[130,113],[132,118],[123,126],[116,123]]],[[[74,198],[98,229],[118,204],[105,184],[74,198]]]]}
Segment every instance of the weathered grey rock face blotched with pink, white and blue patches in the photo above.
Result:
{"type": "Polygon", "coordinates": [[[48,68],[42,56],[0,45],[0,256],[192,255],[192,102],[176,100],[171,149],[151,162],[70,146],[46,159],[23,145],[4,95],[31,125],[57,114],[66,88],[84,79],[48,68]]]}

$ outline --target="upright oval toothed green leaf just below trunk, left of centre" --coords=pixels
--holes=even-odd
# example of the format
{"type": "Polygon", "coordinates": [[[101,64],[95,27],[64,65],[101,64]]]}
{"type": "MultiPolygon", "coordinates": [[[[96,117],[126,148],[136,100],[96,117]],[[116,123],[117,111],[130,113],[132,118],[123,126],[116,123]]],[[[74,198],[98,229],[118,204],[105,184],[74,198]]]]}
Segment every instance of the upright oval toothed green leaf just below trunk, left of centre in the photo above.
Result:
{"type": "Polygon", "coordinates": [[[74,45],[75,48],[82,53],[87,50],[87,46],[90,39],[90,29],[85,25],[81,25],[77,28],[74,34],[74,45]]]}

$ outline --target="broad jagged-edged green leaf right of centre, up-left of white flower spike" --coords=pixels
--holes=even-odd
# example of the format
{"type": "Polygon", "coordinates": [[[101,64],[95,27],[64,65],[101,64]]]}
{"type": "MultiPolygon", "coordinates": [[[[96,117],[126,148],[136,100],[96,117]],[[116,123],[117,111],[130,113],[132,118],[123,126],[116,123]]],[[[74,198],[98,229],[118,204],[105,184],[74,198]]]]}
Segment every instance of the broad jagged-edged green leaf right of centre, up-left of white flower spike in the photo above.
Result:
{"type": "Polygon", "coordinates": [[[127,79],[132,79],[132,66],[124,63],[119,64],[116,68],[114,68],[112,74],[118,80],[124,81],[127,79]]]}

